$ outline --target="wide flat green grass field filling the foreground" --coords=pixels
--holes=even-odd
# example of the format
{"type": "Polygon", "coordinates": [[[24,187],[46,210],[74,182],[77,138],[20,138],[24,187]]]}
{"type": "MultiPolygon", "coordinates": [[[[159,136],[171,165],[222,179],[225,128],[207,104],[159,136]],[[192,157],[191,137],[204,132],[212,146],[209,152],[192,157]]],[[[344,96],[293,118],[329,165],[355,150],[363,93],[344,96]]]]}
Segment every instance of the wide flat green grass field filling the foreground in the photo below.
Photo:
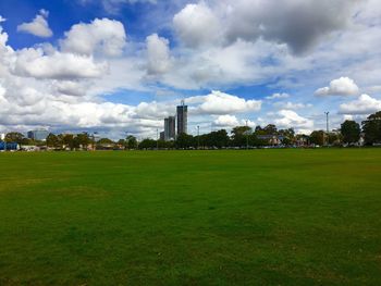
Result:
{"type": "Polygon", "coordinates": [[[380,285],[381,150],[0,153],[1,285],[380,285]]]}

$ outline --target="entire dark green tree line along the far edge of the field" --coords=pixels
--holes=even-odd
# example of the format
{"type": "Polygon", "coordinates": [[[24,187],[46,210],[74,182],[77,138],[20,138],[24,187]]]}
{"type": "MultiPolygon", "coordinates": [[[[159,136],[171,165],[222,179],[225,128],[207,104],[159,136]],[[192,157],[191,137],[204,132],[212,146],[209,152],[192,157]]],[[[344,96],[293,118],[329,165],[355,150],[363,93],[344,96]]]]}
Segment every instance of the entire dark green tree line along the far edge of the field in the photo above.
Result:
{"type": "Polygon", "coordinates": [[[254,129],[249,126],[236,126],[229,135],[225,129],[193,136],[180,134],[175,140],[153,140],[146,138],[140,142],[136,137],[130,135],[124,139],[113,141],[109,138],[95,139],[88,133],[81,134],[59,134],[50,133],[46,141],[35,141],[21,133],[8,133],[7,142],[17,142],[19,145],[46,146],[54,149],[88,150],[88,149],[188,149],[188,148],[248,148],[262,147],[269,145],[295,146],[295,145],[355,145],[362,137],[364,144],[371,146],[381,144],[381,111],[371,114],[361,122],[345,121],[337,132],[327,133],[324,130],[314,130],[310,135],[296,135],[293,128],[278,129],[275,125],[269,124],[265,127],[257,126],[254,129]],[[361,136],[362,134],[362,136],[361,136]]]}

